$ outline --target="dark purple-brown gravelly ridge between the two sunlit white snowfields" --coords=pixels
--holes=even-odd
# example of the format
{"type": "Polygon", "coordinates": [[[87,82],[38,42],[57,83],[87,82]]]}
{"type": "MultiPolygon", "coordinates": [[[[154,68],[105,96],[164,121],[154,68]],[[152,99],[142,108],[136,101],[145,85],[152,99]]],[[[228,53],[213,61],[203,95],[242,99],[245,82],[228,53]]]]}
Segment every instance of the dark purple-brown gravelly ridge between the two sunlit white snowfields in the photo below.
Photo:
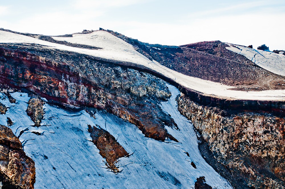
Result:
{"type": "Polygon", "coordinates": [[[285,84],[285,77],[268,72],[243,55],[227,50],[225,47],[228,45],[220,41],[198,42],[179,47],[158,46],[111,30],[105,31],[133,45],[150,60],[154,59],[184,75],[235,86],[235,90],[285,89],[285,85],[282,85],[285,84]]]}

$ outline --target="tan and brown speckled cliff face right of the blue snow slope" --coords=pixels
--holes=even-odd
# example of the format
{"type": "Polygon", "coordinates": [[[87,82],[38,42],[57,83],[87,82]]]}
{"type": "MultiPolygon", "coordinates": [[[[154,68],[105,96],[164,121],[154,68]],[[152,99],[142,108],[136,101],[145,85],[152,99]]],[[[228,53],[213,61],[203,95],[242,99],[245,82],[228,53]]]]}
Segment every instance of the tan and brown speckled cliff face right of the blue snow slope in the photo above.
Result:
{"type": "Polygon", "coordinates": [[[239,172],[249,187],[284,188],[284,118],[270,114],[240,113],[201,106],[185,95],[178,110],[192,121],[215,158],[239,172]]]}

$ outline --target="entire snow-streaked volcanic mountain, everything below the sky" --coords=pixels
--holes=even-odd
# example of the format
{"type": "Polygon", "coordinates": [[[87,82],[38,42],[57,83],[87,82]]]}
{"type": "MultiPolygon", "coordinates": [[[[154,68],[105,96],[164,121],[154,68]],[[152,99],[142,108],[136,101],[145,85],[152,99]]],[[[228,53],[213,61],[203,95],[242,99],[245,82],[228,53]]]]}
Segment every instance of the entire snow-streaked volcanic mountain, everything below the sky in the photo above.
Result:
{"type": "Polygon", "coordinates": [[[0,29],[3,188],[285,188],[284,51],[244,45],[0,29]]]}

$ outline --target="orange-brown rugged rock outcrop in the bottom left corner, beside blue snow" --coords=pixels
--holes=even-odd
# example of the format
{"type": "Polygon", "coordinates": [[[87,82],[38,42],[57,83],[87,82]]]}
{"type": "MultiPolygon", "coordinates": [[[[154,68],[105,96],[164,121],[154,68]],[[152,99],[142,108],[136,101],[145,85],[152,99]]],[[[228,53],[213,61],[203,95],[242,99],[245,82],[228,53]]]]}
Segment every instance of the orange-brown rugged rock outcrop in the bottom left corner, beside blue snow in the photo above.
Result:
{"type": "Polygon", "coordinates": [[[34,188],[36,172],[34,161],[22,149],[12,130],[0,125],[1,171],[24,188],[34,188]]]}

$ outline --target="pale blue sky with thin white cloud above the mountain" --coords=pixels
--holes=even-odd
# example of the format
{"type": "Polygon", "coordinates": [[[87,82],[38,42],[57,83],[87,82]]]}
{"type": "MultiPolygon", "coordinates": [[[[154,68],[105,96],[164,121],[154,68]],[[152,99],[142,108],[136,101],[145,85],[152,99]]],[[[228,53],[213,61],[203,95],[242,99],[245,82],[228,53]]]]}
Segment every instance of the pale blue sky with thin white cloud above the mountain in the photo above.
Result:
{"type": "Polygon", "coordinates": [[[143,42],[182,45],[220,40],[285,50],[284,0],[11,0],[0,3],[0,27],[59,35],[97,30],[143,42]]]}

